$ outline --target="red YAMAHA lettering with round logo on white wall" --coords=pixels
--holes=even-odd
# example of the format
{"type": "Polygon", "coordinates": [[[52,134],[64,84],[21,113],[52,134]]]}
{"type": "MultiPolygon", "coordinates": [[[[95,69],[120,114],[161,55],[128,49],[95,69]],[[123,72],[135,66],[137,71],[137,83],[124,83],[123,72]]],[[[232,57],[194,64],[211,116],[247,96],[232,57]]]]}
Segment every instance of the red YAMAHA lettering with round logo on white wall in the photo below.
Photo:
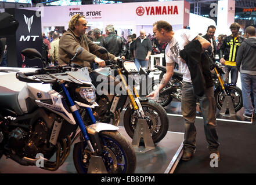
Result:
{"type": "Polygon", "coordinates": [[[147,16],[152,15],[169,15],[169,14],[179,14],[178,13],[178,6],[139,6],[136,8],[136,14],[138,16],[143,16],[145,14],[147,16]]]}

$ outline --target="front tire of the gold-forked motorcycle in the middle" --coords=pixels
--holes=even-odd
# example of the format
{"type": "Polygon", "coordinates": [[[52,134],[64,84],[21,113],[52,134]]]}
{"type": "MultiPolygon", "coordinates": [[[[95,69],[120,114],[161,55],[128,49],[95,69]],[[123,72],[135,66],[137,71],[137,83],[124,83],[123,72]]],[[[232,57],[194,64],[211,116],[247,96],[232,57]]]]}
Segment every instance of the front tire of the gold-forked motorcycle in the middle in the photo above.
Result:
{"type": "MultiPolygon", "coordinates": [[[[145,113],[144,119],[149,125],[150,134],[154,143],[160,142],[167,134],[169,121],[164,108],[157,102],[152,100],[140,102],[145,113]]],[[[134,131],[138,123],[138,115],[136,111],[129,106],[124,113],[124,128],[127,134],[134,138],[134,131]]]]}

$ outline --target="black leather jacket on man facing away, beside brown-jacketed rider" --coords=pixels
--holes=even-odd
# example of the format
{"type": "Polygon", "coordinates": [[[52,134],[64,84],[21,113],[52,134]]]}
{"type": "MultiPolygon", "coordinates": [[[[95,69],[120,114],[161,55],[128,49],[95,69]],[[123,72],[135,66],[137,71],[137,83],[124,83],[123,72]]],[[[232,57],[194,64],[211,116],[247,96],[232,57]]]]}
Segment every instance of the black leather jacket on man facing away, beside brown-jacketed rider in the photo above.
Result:
{"type": "Polygon", "coordinates": [[[100,41],[100,46],[109,51],[109,53],[113,54],[114,56],[125,56],[126,54],[126,47],[125,41],[121,36],[116,35],[114,32],[110,33],[109,36],[106,36],[100,41]]]}

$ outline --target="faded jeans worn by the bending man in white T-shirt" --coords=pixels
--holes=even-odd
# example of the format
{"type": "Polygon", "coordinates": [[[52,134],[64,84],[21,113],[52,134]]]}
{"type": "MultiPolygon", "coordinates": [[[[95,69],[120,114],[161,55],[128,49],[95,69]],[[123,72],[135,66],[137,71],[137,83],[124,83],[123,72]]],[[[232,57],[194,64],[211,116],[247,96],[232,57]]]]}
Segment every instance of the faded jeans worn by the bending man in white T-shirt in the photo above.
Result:
{"type": "Polygon", "coordinates": [[[185,151],[193,153],[196,150],[196,102],[199,101],[204,119],[204,134],[208,142],[208,149],[212,152],[218,150],[218,133],[216,123],[216,103],[213,87],[207,88],[202,97],[194,94],[193,84],[183,82],[181,110],[185,120],[185,134],[183,145],[185,151]]]}

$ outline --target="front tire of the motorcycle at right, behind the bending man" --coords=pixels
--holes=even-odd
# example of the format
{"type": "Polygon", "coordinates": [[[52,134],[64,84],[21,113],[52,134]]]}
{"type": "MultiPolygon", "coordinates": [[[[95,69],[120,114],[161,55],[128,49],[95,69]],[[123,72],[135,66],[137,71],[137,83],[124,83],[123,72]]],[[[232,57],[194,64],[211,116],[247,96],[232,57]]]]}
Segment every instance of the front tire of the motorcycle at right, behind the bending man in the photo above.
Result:
{"type": "MultiPolygon", "coordinates": [[[[226,93],[232,98],[235,112],[239,111],[243,107],[243,96],[239,87],[226,86],[226,93]]],[[[217,108],[221,110],[222,103],[224,101],[224,93],[219,88],[214,91],[214,98],[217,108]]]]}

